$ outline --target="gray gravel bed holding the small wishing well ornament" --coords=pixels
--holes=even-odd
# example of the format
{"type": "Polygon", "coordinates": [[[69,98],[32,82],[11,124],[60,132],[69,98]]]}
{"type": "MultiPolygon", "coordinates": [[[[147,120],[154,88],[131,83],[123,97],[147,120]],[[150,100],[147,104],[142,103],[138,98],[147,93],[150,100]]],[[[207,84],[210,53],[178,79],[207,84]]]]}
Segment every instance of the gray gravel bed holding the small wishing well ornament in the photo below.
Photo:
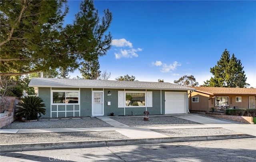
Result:
{"type": "Polygon", "coordinates": [[[115,121],[122,122],[128,126],[181,126],[181,125],[197,125],[200,123],[188,121],[176,117],[149,117],[148,121],[144,121],[143,117],[118,117],[111,118],[115,121]]]}

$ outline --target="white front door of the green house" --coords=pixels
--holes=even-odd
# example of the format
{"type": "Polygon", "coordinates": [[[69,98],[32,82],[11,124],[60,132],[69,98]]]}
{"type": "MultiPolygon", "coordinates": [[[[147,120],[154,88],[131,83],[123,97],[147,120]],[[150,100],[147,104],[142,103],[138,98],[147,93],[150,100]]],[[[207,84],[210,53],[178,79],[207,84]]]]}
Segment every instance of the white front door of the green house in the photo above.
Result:
{"type": "Polygon", "coordinates": [[[92,116],[102,116],[103,112],[103,91],[92,91],[92,116]]]}

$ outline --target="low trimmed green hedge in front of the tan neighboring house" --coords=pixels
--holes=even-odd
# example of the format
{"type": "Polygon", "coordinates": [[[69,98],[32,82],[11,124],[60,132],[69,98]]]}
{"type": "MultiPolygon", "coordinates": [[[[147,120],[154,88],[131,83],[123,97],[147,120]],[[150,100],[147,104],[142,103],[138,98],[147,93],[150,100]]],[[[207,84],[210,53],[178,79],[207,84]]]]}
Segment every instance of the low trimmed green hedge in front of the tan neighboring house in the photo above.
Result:
{"type": "Polygon", "coordinates": [[[256,117],[256,109],[226,109],[226,115],[256,117]]]}

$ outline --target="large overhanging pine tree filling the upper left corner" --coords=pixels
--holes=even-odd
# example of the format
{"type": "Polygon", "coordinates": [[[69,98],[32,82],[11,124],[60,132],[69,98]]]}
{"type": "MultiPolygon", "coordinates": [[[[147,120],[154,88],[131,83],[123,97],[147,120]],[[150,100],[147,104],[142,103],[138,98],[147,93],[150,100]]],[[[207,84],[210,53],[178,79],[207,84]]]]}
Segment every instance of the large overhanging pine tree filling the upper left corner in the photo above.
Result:
{"type": "Polygon", "coordinates": [[[100,18],[92,0],[84,0],[73,24],[63,27],[66,0],[1,0],[0,75],[72,67],[102,56],[111,47],[107,32],[112,13],[100,18]]]}

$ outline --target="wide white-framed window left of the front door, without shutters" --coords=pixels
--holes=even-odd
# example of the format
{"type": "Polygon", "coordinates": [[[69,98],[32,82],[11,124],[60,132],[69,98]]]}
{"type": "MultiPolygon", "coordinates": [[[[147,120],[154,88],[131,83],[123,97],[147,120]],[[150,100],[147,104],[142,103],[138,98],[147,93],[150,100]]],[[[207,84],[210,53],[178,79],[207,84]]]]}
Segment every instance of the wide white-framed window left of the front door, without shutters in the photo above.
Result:
{"type": "Polygon", "coordinates": [[[52,92],[52,103],[78,103],[78,92],[58,91],[52,92]]]}

